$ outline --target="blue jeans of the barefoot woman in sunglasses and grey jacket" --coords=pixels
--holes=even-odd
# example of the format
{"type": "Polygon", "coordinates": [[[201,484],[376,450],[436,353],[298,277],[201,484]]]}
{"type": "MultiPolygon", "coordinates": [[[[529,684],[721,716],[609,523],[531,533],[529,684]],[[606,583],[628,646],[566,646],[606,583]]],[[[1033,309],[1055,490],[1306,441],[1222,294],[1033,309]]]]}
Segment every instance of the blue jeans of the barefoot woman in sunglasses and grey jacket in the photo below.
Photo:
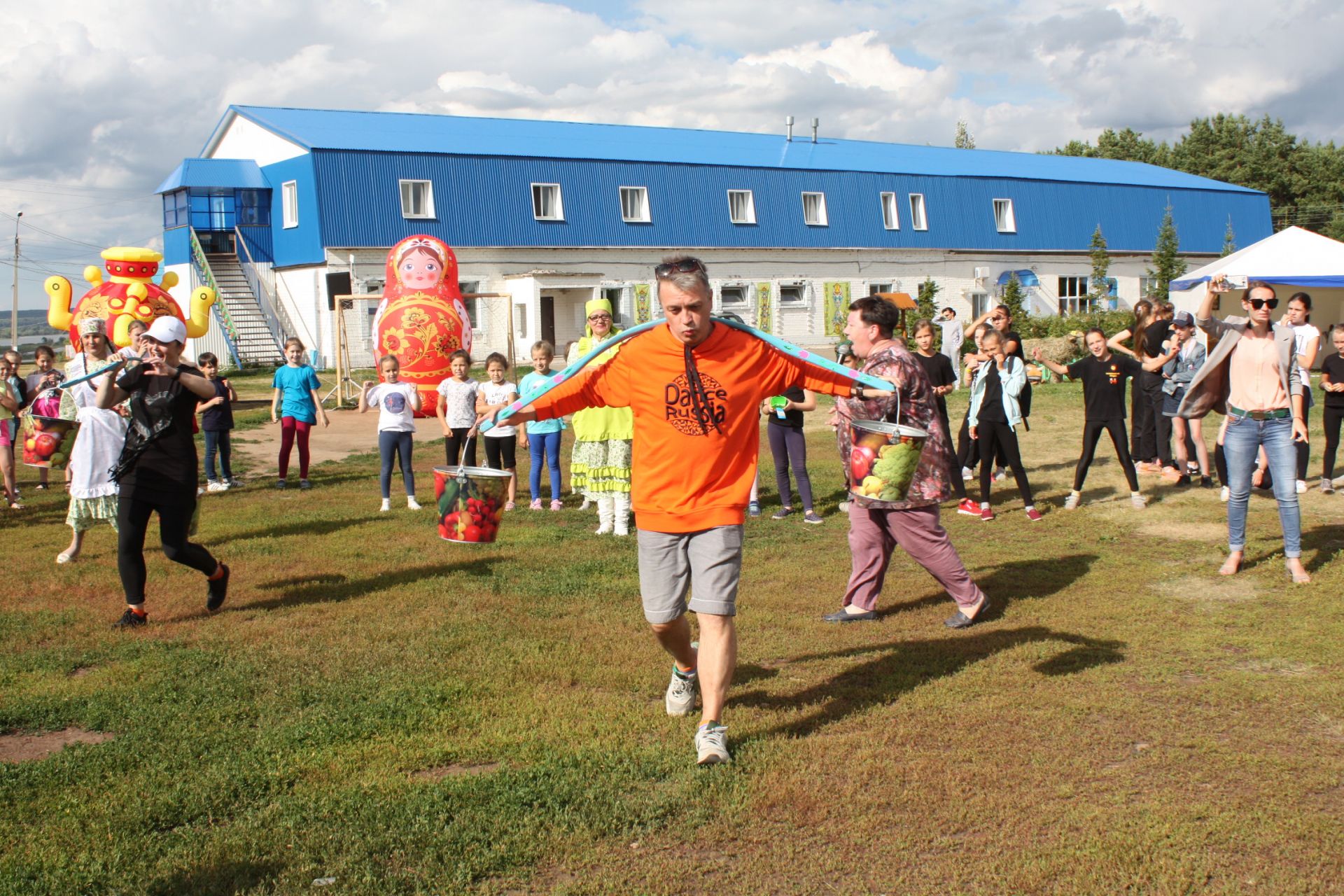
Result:
{"type": "Polygon", "coordinates": [[[1274,477],[1274,500],[1278,521],[1284,527],[1284,556],[1302,556],[1302,513],[1297,506],[1297,446],[1293,443],[1293,418],[1253,420],[1228,416],[1223,453],[1227,455],[1227,547],[1246,549],[1246,504],[1251,497],[1251,472],[1261,446],[1274,477]]]}

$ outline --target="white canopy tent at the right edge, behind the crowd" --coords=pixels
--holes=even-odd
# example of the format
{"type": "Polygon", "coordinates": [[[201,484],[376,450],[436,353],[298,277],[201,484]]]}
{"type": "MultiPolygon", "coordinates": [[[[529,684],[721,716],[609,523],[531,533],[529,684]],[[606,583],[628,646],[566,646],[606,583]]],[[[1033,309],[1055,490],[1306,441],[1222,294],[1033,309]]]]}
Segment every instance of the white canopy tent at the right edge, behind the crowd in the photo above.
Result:
{"type": "MultiPolygon", "coordinates": [[[[1198,312],[1204,301],[1206,283],[1219,274],[1259,279],[1273,286],[1281,302],[1274,320],[1282,314],[1288,297],[1302,292],[1312,297],[1312,322],[1321,333],[1332,324],[1344,322],[1344,243],[1329,236],[1301,227],[1281,230],[1172,281],[1172,304],[1181,310],[1198,312]]],[[[1239,297],[1236,290],[1224,294],[1215,313],[1219,317],[1241,316],[1239,297]]]]}

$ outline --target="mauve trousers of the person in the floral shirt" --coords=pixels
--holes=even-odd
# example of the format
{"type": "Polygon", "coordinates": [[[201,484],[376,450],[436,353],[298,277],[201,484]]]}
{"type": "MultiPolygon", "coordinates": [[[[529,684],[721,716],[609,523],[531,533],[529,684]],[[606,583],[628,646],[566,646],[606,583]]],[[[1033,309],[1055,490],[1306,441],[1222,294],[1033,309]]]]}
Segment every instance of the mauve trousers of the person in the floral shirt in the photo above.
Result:
{"type": "Polygon", "coordinates": [[[849,552],[853,567],[845,586],[844,606],[875,610],[887,578],[891,551],[900,545],[915,563],[938,580],[957,606],[973,607],[984,596],[938,523],[938,505],[910,510],[868,510],[849,502],[849,552]]]}

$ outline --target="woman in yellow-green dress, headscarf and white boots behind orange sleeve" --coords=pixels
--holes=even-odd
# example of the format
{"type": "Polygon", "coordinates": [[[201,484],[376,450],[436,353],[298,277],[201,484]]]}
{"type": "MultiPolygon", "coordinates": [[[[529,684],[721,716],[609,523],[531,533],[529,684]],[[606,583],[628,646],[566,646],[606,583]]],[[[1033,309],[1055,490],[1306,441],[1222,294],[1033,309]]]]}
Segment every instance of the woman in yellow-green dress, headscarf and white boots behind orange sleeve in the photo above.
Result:
{"type": "MultiPolygon", "coordinates": [[[[573,364],[621,330],[613,325],[612,302],[594,298],[583,306],[587,325],[583,339],[571,348],[573,364]]],[[[605,364],[621,347],[603,352],[591,369],[605,364]]],[[[630,533],[630,441],[634,416],[628,407],[590,407],[574,414],[574,453],[570,455],[570,489],[583,494],[583,506],[597,504],[598,535],[630,533]]]]}

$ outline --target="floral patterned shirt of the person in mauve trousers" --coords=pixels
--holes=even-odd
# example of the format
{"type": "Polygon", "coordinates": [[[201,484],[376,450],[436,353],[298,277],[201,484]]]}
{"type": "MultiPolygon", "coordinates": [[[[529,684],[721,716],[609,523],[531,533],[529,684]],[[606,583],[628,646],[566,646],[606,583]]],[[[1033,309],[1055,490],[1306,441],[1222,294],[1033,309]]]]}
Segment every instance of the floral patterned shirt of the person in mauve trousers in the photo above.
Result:
{"type": "Polygon", "coordinates": [[[914,426],[929,433],[915,478],[910,484],[905,501],[878,501],[859,497],[853,492],[849,500],[871,510],[909,510],[911,508],[941,504],[952,497],[952,445],[938,420],[938,404],[934,400],[933,386],[919,361],[909,351],[896,345],[887,347],[871,355],[863,364],[863,372],[890,380],[896,384],[896,394],[890,398],[836,399],[836,412],[840,426],[836,427],[836,441],[840,445],[840,462],[848,469],[852,438],[849,420],[891,420],[898,407],[905,426],[914,426]]]}

